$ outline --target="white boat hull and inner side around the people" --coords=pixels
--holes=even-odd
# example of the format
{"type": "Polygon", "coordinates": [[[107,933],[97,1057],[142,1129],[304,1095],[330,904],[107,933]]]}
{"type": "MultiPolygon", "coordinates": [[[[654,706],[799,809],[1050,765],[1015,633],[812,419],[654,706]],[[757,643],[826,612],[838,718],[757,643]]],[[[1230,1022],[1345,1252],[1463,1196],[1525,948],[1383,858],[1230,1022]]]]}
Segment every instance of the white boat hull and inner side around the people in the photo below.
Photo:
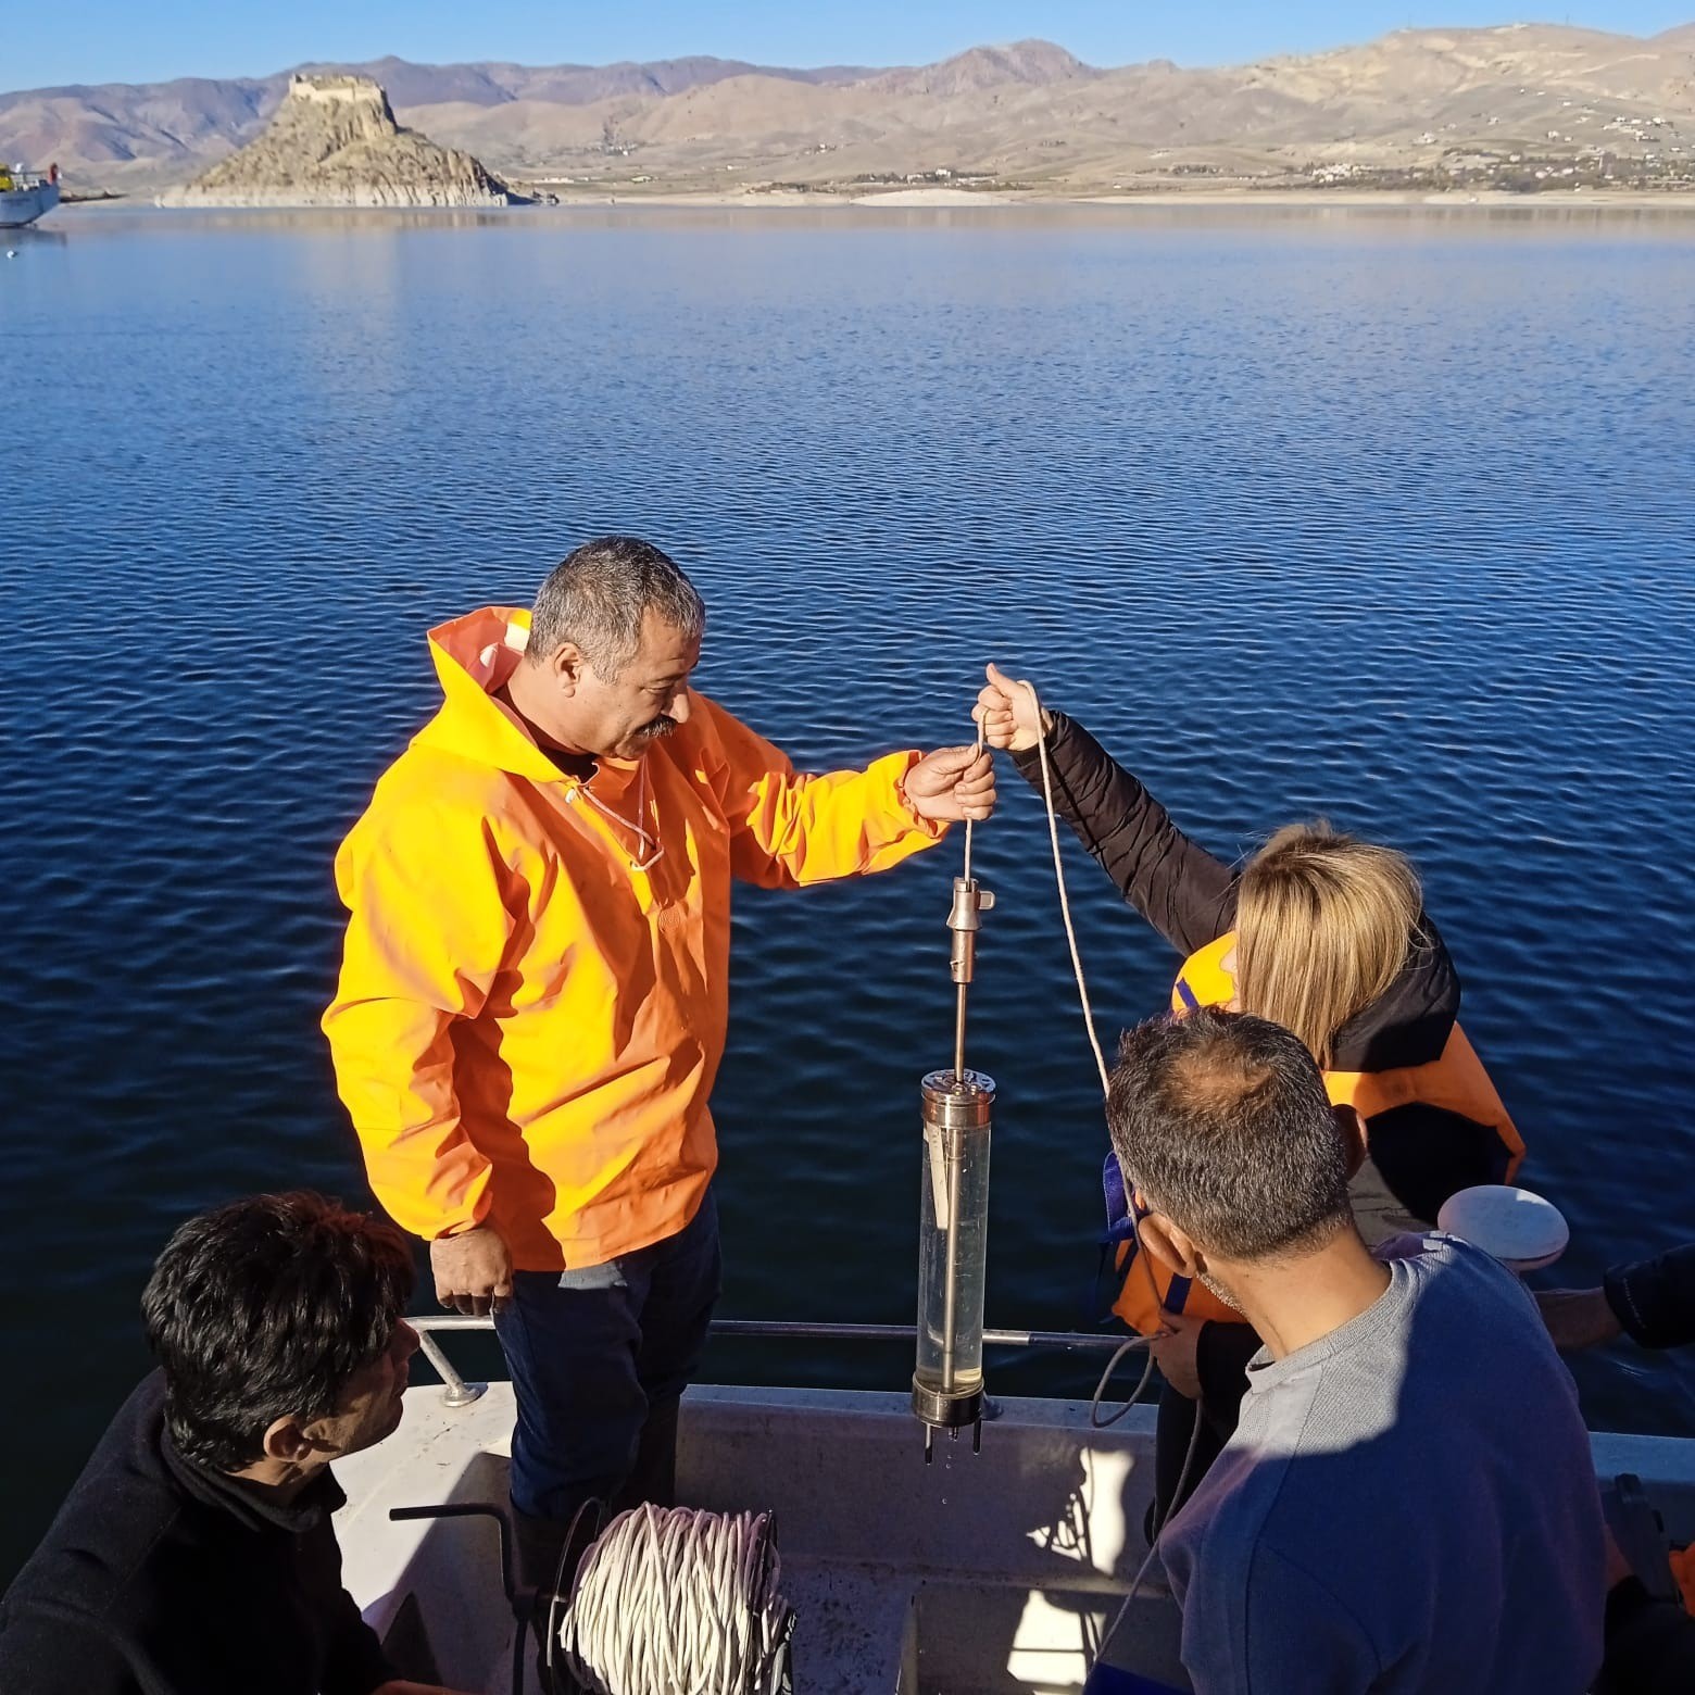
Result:
{"type": "MultiPolygon", "coordinates": [[[[458,1410],[415,1388],[400,1431],[336,1468],[347,1587],[412,1676],[508,1687],[493,1526],[392,1524],[388,1509],[503,1505],[510,1436],[508,1383],[458,1410]]],[[[1095,1431],[1086,1405],[1005,1400],[981,1454],[966,1436],[925,1466],[922,1448],[905,1395],[693,1388],[678,1497],[775,1510],[797,1695],[1075,1695],[1146,1553],[1153,1409],[1095,1431]]],[[[1593,1453],[1695,1539],[1695,1442],[1595,1436],[1593,1453]]],[[[1127,1634],[1141,1675],[1186,1688],[1176,1627],[1151,1585],[1127,1634]]]]}

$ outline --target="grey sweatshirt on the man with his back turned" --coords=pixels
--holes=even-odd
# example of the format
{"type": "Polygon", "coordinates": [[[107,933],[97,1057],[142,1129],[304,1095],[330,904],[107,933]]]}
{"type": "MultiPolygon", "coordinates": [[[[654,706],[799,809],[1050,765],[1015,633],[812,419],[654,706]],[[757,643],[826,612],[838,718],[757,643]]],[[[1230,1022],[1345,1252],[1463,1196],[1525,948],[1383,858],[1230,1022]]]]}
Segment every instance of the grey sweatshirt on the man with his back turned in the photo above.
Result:
{"type": "Polygon", "coordinates": [[[1449,1236],[1248,1368],[1241,1424],[1161,1554],[1202,1695],[1578,1695],[1602,1653],[1600,1498],[1534,1302],[1449,1236]]]}

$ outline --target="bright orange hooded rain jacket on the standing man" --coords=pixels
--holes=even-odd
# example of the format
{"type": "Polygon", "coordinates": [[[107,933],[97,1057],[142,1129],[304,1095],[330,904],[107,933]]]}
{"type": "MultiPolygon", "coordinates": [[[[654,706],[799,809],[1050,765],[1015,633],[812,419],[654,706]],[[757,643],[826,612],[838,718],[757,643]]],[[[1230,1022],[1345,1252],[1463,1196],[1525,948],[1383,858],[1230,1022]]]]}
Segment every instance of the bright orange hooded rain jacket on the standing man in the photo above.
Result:
{"type": "Polygon", "coordinates": [[[639,761],[563,773],[492,692],[529,614],[431,631],[446,695],[336,856],[351,919],[324,1015],[371,1188],[417,1236],[492,1222],[520,1271],[602,1264],[695,1215],[717,1164],[731,878],[881,871],[942,827],[907,805],[914,753],[797,776],[693,695],[639,761]],[[647,858],[632,831],[658,832],[647,858]]]}

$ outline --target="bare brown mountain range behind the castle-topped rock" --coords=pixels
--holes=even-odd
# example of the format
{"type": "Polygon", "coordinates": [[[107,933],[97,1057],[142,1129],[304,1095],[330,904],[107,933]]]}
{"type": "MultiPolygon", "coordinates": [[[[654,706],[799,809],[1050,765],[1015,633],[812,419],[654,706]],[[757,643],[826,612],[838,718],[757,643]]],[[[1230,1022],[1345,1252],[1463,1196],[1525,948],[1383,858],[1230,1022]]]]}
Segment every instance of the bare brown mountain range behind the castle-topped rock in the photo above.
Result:
{"type": "MultiPolygon", "coordinates": [[[[566,193],[920,176],[1086,192],[1603,151],[1695,173],[1695,24],[1653,37],[1551,24],[1398,31],[1225,68],[1105,69],[1020,41],[902,68],[685,58],[295,69],[370,76],[410,129],[566,193]]],[[[259,134],[288,76],[5,93],[0,158],[58,161],[85,192],[151,192],[259,134]]]]}

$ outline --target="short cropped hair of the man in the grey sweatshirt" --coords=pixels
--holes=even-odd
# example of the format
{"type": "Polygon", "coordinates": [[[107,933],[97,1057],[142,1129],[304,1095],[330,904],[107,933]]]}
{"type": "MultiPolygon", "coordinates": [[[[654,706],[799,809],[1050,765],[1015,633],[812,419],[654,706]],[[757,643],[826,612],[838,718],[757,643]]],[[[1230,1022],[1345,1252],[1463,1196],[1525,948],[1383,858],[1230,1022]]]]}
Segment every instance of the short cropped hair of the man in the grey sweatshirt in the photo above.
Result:
{"type": "Polygon", "coordinates": [[[1107,1124],[1125,1183],[1217,1254],[1270,1259],[1351,1217],[1324,1076],[1281,1024],[1202,1007],[1127,1031],[1107,1124]]]}

